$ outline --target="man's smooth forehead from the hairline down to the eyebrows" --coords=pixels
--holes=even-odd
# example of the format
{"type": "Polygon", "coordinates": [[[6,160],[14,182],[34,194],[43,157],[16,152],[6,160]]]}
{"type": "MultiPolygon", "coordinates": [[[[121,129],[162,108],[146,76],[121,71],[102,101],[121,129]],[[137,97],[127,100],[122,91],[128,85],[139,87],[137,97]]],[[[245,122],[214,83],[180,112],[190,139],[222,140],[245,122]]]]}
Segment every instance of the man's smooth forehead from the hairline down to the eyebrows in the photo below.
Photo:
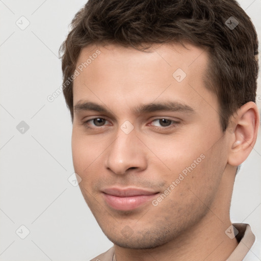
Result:
{"type": "Polygon", "coordinates": [[[207,64],[207,51],[190,43],[153,44],[149,52],[116,44],[89,45],[77,61],[73,103],[91,99],[112,108],[115,103],[131,108],[135,102],[169,97],[196,106],[202,99],[216,103],[204,87],[207,64]]]}

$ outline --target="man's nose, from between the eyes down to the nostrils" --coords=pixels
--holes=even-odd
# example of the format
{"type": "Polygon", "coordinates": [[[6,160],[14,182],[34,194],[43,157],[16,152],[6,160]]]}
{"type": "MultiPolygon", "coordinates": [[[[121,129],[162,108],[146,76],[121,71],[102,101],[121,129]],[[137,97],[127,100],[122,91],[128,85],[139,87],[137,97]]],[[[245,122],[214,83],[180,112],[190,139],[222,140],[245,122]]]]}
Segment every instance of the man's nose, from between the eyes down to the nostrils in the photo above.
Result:
{"type": "Polygon", "coordinates": [[[147,168],[144,144],[136,136],[135,129],[125,134],[120,128],[116,139],[107,150],[106,168],[115,174],[125,174],[128,170],[137,172],[147,168]]]}

